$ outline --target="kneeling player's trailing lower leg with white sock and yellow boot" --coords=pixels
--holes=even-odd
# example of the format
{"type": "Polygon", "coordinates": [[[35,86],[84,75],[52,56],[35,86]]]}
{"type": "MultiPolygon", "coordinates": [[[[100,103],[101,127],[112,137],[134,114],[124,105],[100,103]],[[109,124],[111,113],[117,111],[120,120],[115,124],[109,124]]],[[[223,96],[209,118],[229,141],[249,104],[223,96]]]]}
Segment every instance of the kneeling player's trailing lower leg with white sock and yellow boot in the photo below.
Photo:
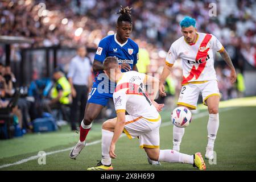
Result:
{"type": "Polygon", "coordinates": [[[192,164],[193,167],[205,170],[206,166],[201,154],[197,152],[194,155],[182,154],[174,150],[159,150],[159,148],[144,148],[151,160],[158,160],[168,163],[192,164]]]}

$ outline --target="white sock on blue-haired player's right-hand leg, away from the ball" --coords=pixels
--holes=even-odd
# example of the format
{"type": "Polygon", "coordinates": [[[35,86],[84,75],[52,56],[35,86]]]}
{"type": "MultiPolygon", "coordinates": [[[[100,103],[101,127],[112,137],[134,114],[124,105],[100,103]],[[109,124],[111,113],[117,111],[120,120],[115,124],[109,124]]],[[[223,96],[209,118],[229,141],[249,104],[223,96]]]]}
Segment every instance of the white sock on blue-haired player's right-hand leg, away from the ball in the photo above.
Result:
{"type": "Polygon", "coordinates": [[[214,147],[214,140],[218,132],[219,119],[218,114],[209,114],[209,121],[207,125],[208,130],[208,144],[207,147],[214,147]]]}

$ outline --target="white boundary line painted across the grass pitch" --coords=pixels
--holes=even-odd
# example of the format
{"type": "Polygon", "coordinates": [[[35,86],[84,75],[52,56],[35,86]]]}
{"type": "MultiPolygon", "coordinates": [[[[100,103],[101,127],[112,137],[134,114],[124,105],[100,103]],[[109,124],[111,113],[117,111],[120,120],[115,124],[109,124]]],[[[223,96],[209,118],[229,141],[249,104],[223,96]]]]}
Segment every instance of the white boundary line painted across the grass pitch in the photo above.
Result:
{"type": "MultiPolygon", "coordinates": [[[[233,108],[225,108],[225,109],[221,109],[221,111],[227,111],[227,110],[231,110],[233,108]]],[[[202,118],[202,117],[205,117],[208,115],[208,111],[204,111],[203,113],[199,113],[199,114],[196,114],[195,117],[193,117],[192,119],[197,119],[197,118],[202,118]]],[[[164,122],[161,124],[160,127],[163,127],[163,126],[168,126],[168,125],[171,125],[171,122],[164,122]]],[[[124,137],[126,136],[125,134],[122,134],[121,137],[124,137]]],[[[94,144],[98,144],[100,143],[101,140],[96,140],[94,142],[90,142],[90,143],[86,143],[86,146],[92,146],[94,144]]],[[[52,154],[56,154],[56,153],[59,153],[59,152],[65,152],[65,151],[69,151],[69,150],[72,150],[73,147],[71,148],[65,148],[63,150],[57,150],[57,151],[52,151],[52,152],[47,152],[46,155],[52,155],[52,154]]],[[[10,166],[14,166],[14,165],[19,165],[19,164],[22,164],[22,163],[26,163],[30,160],[35,160],[35,159],[38,159],[39,156],[38,155],[34,155],[34,156],[31,156],[29,158],[26,158],[26,159],[22,159],[22,160],[19,160],[18,162],[15,162],[15,163],[11,163],[11,164],[5,164],[5,165],[2,165],[0,166],[0,169],[1,168],[5,168],[5,167],[10,167],[10,166]]]]}

